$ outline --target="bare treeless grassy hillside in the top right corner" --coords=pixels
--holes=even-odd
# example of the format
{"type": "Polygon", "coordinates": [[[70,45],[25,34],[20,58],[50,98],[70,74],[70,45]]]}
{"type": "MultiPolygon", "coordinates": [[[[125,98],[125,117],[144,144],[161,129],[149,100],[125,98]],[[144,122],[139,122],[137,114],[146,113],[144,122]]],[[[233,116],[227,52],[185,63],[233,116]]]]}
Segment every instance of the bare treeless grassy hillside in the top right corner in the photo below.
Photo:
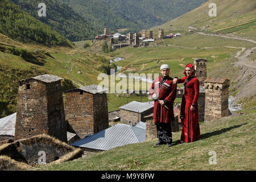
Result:
{"type": "Polygon", "coordinates": [[[194,27],[197,31],[232,34],[256,40],[256,4],[253,0],[217,0],[208,1],[204,5],[186,13],[161,27],[178,30],[189,30],[194,27]],[[210,3],[216,3],[217,16],[209,16],[210,3]],[[172,24],[172,27],[170,25],[172,24]],[[207,24],[209,27],[207,28],[207,24]]]}

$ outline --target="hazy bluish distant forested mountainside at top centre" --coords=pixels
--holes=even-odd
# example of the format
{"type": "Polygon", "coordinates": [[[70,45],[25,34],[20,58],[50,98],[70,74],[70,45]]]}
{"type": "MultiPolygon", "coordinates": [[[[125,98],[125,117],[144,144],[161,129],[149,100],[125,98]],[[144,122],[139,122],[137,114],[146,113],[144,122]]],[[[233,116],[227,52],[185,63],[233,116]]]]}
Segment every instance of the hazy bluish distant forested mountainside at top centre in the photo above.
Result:
{"type": "Polygon", "coordinates": [[[207,0],[57,0],[79,12],[93,27],[103,32],[125,29],[141,31],[180,16],[207,0]]]}

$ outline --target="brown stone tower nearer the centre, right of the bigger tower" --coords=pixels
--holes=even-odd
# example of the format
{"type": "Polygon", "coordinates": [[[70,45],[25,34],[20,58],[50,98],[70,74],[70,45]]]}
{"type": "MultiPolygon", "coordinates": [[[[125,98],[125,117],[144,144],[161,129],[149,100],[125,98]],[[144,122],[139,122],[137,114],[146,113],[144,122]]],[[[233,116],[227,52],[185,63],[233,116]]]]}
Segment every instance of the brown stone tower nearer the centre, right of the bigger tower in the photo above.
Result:
{"type": "Polygon", "coordinates": [[[106,90],[89,85],[65,92],[65,118],[69,132],[84,138],[109,127],[106,90]]]}

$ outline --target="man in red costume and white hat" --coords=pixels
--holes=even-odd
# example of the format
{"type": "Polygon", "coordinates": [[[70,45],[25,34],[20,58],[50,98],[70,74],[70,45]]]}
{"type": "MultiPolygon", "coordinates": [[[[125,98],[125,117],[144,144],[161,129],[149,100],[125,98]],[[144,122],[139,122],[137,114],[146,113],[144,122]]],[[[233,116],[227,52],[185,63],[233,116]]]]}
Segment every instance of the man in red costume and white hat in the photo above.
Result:
{"type": "Polygon", "coordinates": [[[158,142],[155,146],[160,144],[167,144],[171,147],[172,143],[172,130],[171,121],[174,120],[174,100],[176,98],[177,84],[173,84],[169,76],[170,67],[163,64],[160,67],[162,76],[155,78],[150,88],[150,95],[154,102],[153,118],[156,125],[158,142]]]}

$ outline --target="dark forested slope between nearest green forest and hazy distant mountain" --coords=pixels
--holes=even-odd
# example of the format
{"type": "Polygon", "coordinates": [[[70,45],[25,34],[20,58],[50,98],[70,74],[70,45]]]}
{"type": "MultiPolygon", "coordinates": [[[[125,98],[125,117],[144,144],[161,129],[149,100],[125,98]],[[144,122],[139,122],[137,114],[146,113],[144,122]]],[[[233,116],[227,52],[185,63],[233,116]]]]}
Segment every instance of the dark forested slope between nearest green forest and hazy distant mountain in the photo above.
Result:
{"type": "Polygon", "coordinates": [[[36,0],[10,0],[26,11],[34,18],[48,24],[53,30],[59,32],[60,35],[71,40],[72,42],[86,39],[93,39],[98,33],[90,24],[76,13],[71,7],[56,0],[45,0],[46,16],[39,17],[38,4],[36,0]]]}

